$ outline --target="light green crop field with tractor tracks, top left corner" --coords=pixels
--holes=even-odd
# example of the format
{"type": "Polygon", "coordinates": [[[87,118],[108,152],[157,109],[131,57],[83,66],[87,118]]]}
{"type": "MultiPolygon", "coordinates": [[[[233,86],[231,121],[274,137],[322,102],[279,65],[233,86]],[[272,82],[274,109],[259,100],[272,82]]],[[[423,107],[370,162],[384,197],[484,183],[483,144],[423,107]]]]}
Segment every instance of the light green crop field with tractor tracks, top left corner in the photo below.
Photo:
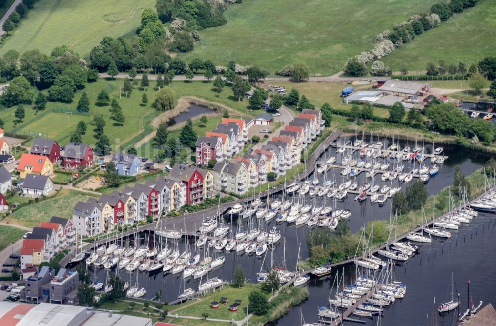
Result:
{"type": "Polygon", "coordinates": [[[81,56],[105,36],[119,37],[140,24],[143,9],[154,0],[43,0],[29,11],[0,49],[24,52],[40,49],[50,53],[66,44],[81,56]]]}

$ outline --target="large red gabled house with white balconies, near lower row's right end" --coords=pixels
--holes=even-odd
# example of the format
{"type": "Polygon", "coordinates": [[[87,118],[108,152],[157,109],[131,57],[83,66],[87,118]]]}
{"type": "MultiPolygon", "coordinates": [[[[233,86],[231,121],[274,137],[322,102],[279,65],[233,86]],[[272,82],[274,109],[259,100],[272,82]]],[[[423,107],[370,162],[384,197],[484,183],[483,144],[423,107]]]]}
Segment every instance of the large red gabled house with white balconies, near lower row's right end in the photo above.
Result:
{"type": "Polygon", "coordinates": [[[169,175],[181,180],[186,185],[186,204],[192,205],[203,202],[203,176],[196,168],[191,168],[184,164],[176,164],[169,175]]]}

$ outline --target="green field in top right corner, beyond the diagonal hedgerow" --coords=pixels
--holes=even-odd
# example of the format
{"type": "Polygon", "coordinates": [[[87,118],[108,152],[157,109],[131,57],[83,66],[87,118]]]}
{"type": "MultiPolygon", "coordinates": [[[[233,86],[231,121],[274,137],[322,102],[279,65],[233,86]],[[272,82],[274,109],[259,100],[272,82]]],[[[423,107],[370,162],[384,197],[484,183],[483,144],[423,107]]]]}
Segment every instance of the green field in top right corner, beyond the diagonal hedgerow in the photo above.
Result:
{"type": "Polygon", "coordinates": [[[496,53],[496,6],[492,0],[480,0],[473,8],[451,17],[439,27],[417,36],[411,43],[384,58],[386,65],[399,71],[424,71],[428,62],[468,66],[496,53]]]}

